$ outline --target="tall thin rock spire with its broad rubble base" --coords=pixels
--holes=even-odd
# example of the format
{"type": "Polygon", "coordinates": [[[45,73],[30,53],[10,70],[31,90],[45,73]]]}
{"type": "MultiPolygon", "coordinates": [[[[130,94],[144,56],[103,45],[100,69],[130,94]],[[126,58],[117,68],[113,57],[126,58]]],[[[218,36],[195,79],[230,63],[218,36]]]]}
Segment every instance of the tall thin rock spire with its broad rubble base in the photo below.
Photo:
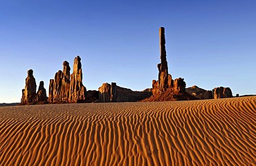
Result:
{"type": "Polygon", "coordinates": [[[152,93],[150,98],[144,101],[176,101],[176,100],[192,100],[194,96],[185,92],[184,79],[172,79],[172,75],[168,74],[167,54],[165,50],[165,28],[159,29],[160,38],[160,59],[161,63],[157,65],[158,81],[152,81],[152,93]]]}

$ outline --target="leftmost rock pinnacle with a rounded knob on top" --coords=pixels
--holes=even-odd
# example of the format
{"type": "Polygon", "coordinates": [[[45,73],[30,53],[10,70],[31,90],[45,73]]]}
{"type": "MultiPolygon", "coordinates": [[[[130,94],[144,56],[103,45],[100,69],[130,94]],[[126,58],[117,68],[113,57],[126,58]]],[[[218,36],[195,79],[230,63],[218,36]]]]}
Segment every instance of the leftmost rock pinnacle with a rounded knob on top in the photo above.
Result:
{"type": "Polygon", "coordinates": [[[28,76],[26,78],[25,89],[22,90],[21,105],[33,104],[36,101],[36,89],[37,84],[33,76],[33,70],[28,70],[28,76]]]}

